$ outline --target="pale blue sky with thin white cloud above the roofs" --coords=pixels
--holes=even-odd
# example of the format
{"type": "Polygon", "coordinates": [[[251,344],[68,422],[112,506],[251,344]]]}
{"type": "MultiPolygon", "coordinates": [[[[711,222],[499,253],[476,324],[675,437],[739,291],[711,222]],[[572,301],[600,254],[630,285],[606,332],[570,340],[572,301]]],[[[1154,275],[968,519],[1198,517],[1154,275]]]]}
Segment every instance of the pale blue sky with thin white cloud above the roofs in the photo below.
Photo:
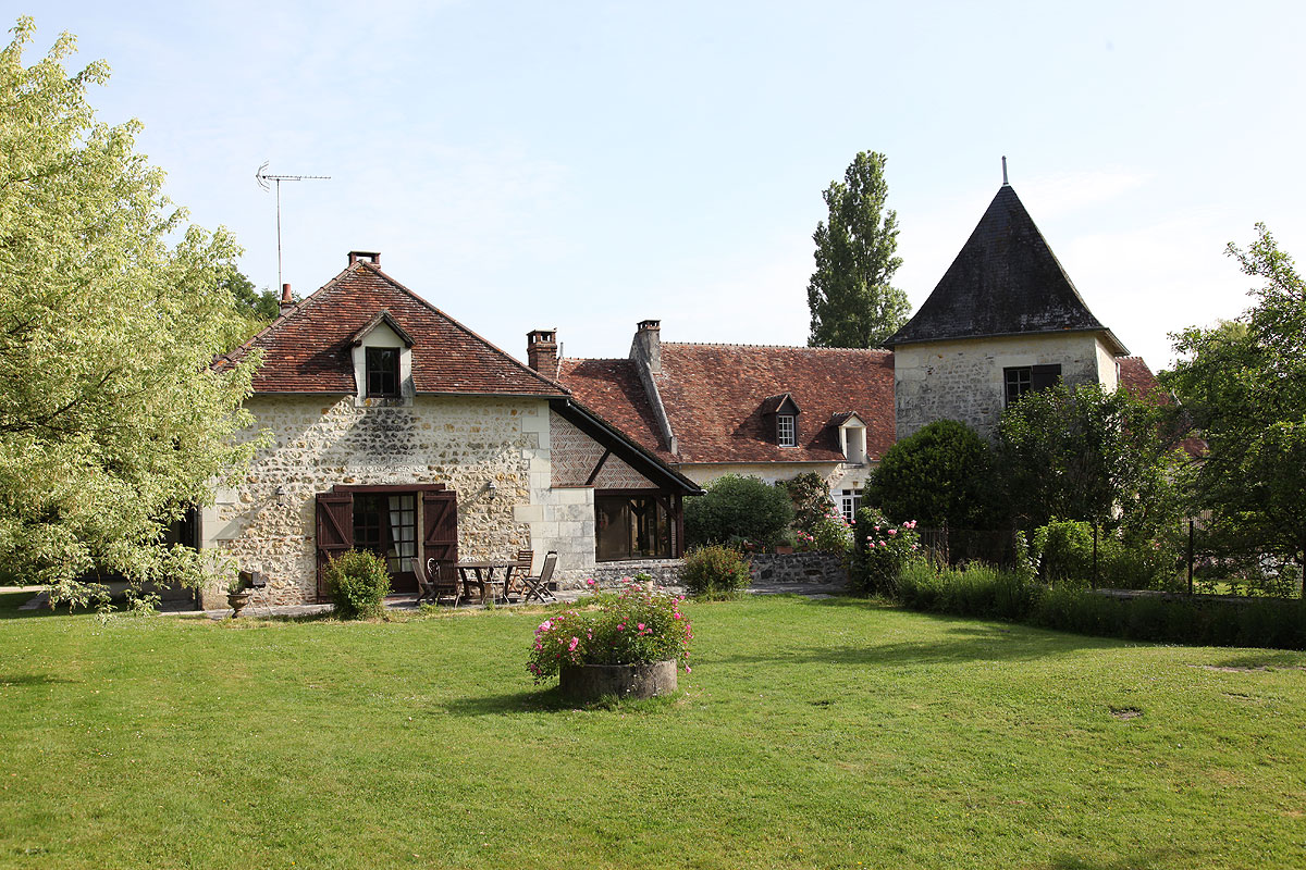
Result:
{"type": "Polygon", "coordinates": [[[1153,369],[1166,333],[1233,317],[1224,256],[1266,222],[1306,256],[1290,3],[64,3],[91,102],[242,269],[308,292],[375,249],[504,350],[803,344],[821,190],[888,157],[913,308],[1002,181],[1092,310],[1153,369]]]}

